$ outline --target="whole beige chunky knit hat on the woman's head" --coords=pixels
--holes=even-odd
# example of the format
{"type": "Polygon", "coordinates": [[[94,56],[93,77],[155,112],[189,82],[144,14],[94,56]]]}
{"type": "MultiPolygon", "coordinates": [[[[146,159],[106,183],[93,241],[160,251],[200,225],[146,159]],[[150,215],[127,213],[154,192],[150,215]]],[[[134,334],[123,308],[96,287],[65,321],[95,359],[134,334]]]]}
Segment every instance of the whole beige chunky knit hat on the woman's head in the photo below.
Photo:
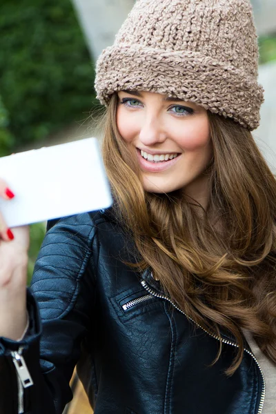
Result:
{"type": "Polygon", "coordinates": [[[138,0],[97,61],[97,98],[159,92],[254,130],[264,101],[258,57],[249,0],[138,0]]]}

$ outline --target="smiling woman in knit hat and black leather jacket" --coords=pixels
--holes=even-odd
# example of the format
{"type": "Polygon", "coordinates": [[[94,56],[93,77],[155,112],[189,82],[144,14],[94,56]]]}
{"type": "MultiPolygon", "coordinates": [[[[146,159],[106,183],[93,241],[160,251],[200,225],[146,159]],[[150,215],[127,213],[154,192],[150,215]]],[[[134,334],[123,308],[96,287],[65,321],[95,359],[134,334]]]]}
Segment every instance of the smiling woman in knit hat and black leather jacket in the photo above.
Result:
{"type": "Polygon", "coordinates": [[[249,1],[137,1],[97,63],[114,206],[48,223],[27,301],[28,231],[2,221],[3,413],[60,414],[77,363],[95,414],[274,413],[257,57],[249,1]]]}

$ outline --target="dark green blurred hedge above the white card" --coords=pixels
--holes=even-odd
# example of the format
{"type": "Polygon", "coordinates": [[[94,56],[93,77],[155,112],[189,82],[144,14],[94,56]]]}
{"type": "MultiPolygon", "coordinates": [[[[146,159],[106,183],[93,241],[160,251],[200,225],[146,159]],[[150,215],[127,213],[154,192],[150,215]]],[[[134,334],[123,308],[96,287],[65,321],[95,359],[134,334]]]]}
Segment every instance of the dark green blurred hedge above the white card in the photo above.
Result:
{"type": "Polygon", "coordinates": [[[88,116],[93,70],[70,0],[2,0],[0,32],[0,91],[10,116],[2,151],[88,116]]]}

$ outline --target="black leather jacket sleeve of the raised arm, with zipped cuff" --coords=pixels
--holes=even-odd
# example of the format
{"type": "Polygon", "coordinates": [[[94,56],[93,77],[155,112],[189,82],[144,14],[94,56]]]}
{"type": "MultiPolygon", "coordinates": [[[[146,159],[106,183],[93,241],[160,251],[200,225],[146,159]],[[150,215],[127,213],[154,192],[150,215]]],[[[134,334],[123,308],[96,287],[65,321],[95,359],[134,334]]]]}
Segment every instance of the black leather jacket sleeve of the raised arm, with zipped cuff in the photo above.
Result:
{"type": "Polygon", "coordinates": [[[46,233],[28,291],[28,333],[20,342],[0,338],[0,413],[61,414],[72,399],[69,382],[95,302],[96,228],[88,217],[61,219],[46,233]],[[33,382],[23,400],[14,351],[33,382]]]}

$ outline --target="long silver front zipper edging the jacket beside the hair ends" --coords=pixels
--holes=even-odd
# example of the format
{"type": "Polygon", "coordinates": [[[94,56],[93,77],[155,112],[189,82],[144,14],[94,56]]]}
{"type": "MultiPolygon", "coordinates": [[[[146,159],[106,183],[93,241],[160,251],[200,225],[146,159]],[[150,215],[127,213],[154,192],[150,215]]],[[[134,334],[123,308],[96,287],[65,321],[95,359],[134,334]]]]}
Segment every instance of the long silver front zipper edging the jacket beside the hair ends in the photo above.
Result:
{"type": "MultiPolygon", "coordinates": [[[[157,292],[155,292],[155,290],[150,288],[150,286],[148,286],[148,284],[146,283],[145,280],[141,280],[141,285],[147,290],[148,293],[150,293],[150,295],[152,295],[154,297],[159,297],[160,299],[164,299],[164,300],[170,302],[170,304],[172,304],[172,306],[174,306],[174,308],[177,309],[177,311],[179,311],[180,313],[183,313],[183,315],[185,315],[188,319],[190,319],[190,321],[192,321],[195,325],[197,325],[204,332],[206,332],[210,337],[213,337],[213,338],[217,339],[219,342],[223,342],[224,344],[232,345],[232,346],[235,346],[236,348],[239,347],[239,345],[235,344],[235,342],[231,342],[228,339],[220,338],[217,335],[215,335],[214,333],[210,333],[210,332],[206,331],[206,329],[204,329],[202,326],[197,324],[197,322],[195,322],[191,317],[186,315],[186,313],[181,311],[181,309],[177,305],[175,305],[169,297],[167,297],[166,295],[161,295],[160,293],[157,293],[157,292]]],[[[266,382],[264,380],[264,373],[263,373],[262,368],[261,368],[259,362],[257,361],[255,355],[251,351],[249,351],[249,349],[244,348],[244,351],[246,353],[248,353],[251,357],[253,357],[254,361],[257,364],[257,367],[259,368],[260,373],[262,374],[262,380],[263,380],[262,394],[261,394],[261,400],[259,402],[259,409],[258,409],[258,412],[257,412],[257,414],[262,414],[263,407],[264,407],[264,398],[265,398],[265,395],[266,395],[266,382]]]]}

